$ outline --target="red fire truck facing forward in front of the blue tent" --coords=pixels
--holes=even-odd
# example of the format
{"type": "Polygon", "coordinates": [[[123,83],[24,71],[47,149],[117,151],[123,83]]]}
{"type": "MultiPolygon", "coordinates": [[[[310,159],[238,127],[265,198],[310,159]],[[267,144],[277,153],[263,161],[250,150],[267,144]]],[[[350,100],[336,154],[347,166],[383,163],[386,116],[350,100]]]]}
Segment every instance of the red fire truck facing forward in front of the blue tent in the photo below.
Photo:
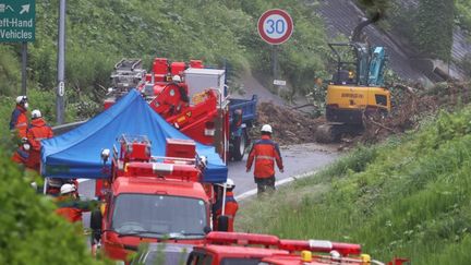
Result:
{"type": "MultiPolygon", "coordinates": [[[[166,156],[150,156],[146,136],[122,135],[112,150],[100,210],[92,213],[93,249],[125,261],[142,242],[196,244],[210,231],[213,189],[191,140],[167,140],[166,156]],[[196,157],[196,158],[195,158],[196,157]]],[[[101,154],[104,162],[110,150],[101,154]]]]}

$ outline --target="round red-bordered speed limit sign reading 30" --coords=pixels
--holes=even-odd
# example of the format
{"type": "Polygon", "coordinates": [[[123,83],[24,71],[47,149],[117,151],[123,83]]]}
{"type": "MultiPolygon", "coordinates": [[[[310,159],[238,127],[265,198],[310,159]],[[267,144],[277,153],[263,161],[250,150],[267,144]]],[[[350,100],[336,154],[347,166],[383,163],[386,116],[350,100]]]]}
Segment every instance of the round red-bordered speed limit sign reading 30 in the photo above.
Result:
{"type": "Polygon", "coordinates": [[[270,45],[280,45],[287,41],[293,31],[291,16],[280,9],[265,11],[258,19],[258,34],[270,45]]]}

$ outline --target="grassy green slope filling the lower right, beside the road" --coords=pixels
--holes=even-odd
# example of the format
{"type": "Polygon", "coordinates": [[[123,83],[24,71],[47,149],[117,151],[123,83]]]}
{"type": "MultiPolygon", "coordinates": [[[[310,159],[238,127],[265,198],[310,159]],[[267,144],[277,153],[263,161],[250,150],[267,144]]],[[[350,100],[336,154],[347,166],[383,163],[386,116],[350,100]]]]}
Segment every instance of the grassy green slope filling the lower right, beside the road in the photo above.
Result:
{"type": "Polygon", "coordinates": [[[381,261],[471,261],[471,107],[423,121],[418,133],[359,147],[262,202],[239,230],[361,243],[381,261]]]}

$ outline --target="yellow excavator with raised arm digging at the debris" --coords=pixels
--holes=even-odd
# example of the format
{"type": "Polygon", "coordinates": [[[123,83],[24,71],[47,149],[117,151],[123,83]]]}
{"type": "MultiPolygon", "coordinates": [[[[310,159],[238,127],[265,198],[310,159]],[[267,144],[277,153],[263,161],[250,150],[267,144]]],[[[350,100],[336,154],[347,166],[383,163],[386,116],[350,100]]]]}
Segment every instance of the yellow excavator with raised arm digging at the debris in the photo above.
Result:
{"type": "Polygon", "coordinates": [[[336,142],[342,134],[360,133],[364,117],[389,113],[390,92],[384,87],[385,48],[371,48],[361,35],[365,26],[379,17],[376,13],[372,19],[363,20],[349,43],[329,44],[337,69],[327,86],[327,122],[317,128],[317,142],[336,142]]]}

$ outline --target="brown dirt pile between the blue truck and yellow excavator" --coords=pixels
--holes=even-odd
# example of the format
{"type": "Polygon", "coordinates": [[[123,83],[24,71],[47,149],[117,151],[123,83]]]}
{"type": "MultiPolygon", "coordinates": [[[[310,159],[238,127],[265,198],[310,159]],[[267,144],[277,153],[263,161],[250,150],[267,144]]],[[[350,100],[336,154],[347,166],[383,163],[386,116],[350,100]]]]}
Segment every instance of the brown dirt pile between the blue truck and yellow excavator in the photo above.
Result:
{"type": "Polygon", "coordinates": [[[251,137],[259,137],[259,127],[267,123],[273,127],[274,140],[281,145],[315,142],[315,130],[325,121],[273,103],[261,103],[257,113],[258,127],[252,130],[251,137]]]}

